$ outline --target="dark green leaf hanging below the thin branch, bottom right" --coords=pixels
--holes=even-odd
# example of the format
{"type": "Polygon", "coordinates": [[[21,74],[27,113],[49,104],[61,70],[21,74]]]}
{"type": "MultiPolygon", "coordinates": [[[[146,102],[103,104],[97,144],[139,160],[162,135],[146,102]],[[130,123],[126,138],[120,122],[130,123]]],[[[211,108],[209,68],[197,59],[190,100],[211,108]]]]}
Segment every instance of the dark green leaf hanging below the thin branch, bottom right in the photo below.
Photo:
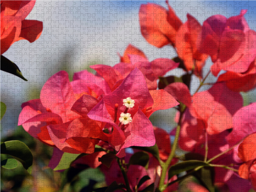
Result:
{"type": "Polygon", "coordinates": [[[196,179],[200,182],[201,185],[203,185],[205,188],[207,188],[210,192],[214,192],[214,167],[203,167],[196,171],[193,176],[196,177],[196,179]]]}

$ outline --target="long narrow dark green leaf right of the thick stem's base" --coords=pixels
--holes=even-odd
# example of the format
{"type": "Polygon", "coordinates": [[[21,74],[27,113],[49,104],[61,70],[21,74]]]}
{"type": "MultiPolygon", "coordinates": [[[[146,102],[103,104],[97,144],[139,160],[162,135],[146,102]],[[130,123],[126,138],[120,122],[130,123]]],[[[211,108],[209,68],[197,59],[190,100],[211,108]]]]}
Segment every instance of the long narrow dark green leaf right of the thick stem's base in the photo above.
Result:
{"type": "Polygon", "coordinates": [[[210,165],[203,161],[197,161],[197,160],[190,160],[190,161],[177,163],[170,167],[168,172],[168,180],[171,179],[174,175],[177,175],[184,171],[195,169],[198,166],[210,166],[210,165]]]}

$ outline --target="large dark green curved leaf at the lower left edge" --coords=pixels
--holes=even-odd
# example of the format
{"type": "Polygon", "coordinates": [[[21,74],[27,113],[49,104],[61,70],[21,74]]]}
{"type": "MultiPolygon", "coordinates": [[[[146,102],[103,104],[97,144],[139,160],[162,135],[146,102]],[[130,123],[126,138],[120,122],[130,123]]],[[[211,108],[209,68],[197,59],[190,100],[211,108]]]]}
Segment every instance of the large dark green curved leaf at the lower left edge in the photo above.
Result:
{"type": "Polygon", "coordinates": [[[31,174],[31,166],[33,164],[33,155],[28,146],[18,140],[6,141],[0,145],[1,154],[13,156],[20,161],[23,167],[31,174]]]}

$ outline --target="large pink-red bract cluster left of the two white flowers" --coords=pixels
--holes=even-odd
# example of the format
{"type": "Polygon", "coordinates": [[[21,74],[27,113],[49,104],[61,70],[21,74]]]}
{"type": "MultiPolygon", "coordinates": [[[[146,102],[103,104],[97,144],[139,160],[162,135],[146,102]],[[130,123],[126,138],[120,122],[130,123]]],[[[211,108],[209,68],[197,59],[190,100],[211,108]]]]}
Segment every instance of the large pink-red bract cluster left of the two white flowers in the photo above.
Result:
{"type": "Polygon", "coordinates": [[[45,82],[40,99],[22,104],[19,125],[33,137],[64,152],[93,153],[104,126],[86,116],[98,103],[95,92],[93,86],[88,87],[80,79],[69,82],[68,73],[60,71],[45,82]]]}

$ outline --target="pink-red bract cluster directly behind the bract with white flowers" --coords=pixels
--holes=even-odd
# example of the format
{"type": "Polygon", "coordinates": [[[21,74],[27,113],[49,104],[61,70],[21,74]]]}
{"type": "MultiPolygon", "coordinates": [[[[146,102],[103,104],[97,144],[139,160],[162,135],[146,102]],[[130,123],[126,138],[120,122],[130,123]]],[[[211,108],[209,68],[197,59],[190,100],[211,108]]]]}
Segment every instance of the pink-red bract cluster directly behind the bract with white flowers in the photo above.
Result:
{"type": "Polygon", "coordinates": [[[96,70],[97,73],[106,80],[112,91],[115,90],[122,83],[123,79],[135,68],[140,69],[143,73],[148,89],[155,90],[157,88],[158,77],[165,75],[168,71],[179,66],[179,63],[168,58],[158,58],[150,62],[142,51],[130,44],[126,50],[124,56],[129,59],[121,58],[121,62],[117,63],[114,67],[100,64],[91,66],[91,68],[96,70]],[[132,51],[128,52],[126,50],[132,51]]]}

